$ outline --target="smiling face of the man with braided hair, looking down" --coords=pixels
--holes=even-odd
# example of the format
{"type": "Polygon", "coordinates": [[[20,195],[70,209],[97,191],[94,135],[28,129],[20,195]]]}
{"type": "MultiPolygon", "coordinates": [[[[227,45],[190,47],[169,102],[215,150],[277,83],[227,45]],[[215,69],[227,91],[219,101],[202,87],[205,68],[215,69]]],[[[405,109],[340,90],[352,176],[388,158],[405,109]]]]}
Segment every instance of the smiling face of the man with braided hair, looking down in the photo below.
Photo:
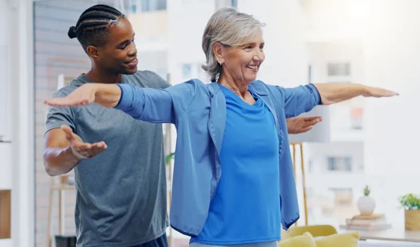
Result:
{"type": "Polygon", "coordinates": [[[134,35],[127,18],[120,18],[116,25],[109,25],[108,41],[98,47],[100,66],[115,74],[136,73],[138,60],[134,35]]]}

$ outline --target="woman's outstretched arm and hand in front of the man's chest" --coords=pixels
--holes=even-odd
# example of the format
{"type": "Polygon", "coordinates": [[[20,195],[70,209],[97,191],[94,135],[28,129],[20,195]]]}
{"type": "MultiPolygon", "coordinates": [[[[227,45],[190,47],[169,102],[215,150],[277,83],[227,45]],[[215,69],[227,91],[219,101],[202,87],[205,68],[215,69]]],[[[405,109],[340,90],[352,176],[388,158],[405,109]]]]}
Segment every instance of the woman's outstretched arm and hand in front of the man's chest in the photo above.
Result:
{"type": "Polygon", "coordinates": [[[44,100],[57,107],[86,106],[92,103],[114,107],[133,118],[148,122],[175,122],[194,99],[198,83],[193,80],[166,89],[139,88],[130,84],[89,83],[62,98],[44,100]]]}

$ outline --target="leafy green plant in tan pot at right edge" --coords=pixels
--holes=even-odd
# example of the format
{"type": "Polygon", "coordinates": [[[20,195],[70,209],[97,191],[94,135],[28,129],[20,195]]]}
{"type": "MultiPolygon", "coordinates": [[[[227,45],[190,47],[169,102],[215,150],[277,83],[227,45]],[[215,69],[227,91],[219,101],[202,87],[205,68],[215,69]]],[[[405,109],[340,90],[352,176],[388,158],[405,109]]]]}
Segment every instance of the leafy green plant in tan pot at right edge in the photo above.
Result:
{"type": "Polygon", "coordinates": [[[406,230],[420,230],[420,196],[406,194],[399,198],[400,204],[405,209],[406,230]]]}

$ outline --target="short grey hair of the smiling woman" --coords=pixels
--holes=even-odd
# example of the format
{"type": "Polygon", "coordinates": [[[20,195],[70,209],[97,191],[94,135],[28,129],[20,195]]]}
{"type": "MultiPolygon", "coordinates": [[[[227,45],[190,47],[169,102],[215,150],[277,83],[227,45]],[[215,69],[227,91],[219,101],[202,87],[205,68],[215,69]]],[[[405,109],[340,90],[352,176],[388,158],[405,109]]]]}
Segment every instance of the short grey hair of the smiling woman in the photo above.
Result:
{"type": "Polygon", "coordinates": [[[265,24],[252,15],[240,13],[234,8],[219,9],[210,17],[201,45],[206,57],[202,68],[211,77],[211,81],[216,81],[222,74],[222,66],[218,64],[213,52],[214,44],[220,42],[224,46],[244,45],[261,34],[263,26],[265,24]]]}

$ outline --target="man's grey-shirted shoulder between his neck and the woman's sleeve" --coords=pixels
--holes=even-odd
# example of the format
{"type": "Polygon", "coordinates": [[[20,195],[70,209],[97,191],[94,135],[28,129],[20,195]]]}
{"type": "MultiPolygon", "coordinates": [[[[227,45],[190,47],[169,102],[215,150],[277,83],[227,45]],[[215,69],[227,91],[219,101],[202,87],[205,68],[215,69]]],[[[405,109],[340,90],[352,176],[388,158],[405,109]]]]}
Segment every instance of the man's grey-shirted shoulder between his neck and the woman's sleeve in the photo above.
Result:
{"type": "Polygon", "coordinates": [[[170,86],[166,80],[164,80],[161,76],[156,74],[155,72],[144,70],[144,71],[137,71],[132,75],[128,75],[128,83],[139,86],[139,87],[147,87],[147,88],[167,88],[170,86]]]}

